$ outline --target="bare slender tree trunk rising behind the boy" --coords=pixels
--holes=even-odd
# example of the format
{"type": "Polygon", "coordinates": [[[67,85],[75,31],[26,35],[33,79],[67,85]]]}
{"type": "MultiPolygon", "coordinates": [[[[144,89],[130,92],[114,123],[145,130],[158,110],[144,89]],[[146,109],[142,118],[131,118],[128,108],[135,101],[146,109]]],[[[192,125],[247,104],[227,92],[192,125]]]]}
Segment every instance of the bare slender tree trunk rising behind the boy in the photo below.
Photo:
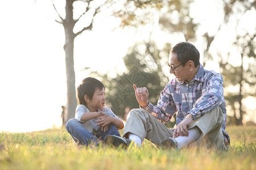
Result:
{"type": "Polygon", "coordinates": [[[75,90],[75,70],[74,70],[74,40],[75,34],[73,28],[75,22],[73,20],[73,0],[67,0],[65,11],[66,18],[63,22],[65,30],[65,64],[66,64],[66,76],[67,76],[67,105],[65,106],[65,121],[75,117],[76,111],[76,90],[75,90]]]}

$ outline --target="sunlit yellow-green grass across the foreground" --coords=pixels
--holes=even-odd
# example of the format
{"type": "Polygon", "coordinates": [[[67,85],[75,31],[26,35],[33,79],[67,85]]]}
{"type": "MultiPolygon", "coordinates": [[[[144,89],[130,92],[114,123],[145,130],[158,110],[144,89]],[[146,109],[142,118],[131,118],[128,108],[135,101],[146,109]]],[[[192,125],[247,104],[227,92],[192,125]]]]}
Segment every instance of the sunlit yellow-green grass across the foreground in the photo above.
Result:
{"type": "Polygon", "coordinates": [[[198,147],[164,151],[148,141],[142,148],[77,148],[64,128],[3,132],[0,169],[256,169],[256,126],[231,126],[226,131],[232,139],[228,152],[198,147]]]}

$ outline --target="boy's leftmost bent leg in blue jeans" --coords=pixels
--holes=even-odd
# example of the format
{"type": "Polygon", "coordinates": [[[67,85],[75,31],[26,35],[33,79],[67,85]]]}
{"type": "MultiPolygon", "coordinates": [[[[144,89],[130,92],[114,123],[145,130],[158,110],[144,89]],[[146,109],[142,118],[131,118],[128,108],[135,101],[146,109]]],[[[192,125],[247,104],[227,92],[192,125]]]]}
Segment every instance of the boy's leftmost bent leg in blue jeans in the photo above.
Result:
{"type": "Polygon", "coordinates": [[[69,120],[65,127],[77,145],[88,145],[97,141],[97,137],[86,130],[76,118],[69,120]]]}

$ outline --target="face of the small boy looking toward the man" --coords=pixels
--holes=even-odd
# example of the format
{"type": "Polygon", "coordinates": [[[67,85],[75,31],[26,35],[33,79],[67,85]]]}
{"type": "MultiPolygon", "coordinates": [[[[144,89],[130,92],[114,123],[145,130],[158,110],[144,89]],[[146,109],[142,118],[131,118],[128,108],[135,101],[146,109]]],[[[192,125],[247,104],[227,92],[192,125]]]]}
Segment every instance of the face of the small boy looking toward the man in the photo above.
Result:
{"type": "MultiPolygon", "coordinates": [[[[86,98],[86,95],[85,95],[86,98]]],[[[102,88],[102,90],[99,90],[98,88],[93,94],[92,100],[86,100],[86,107],[90,110],[90,112],[97,112],[97,109],[102,110],[105,105],[105,88],[102,88]]]]}

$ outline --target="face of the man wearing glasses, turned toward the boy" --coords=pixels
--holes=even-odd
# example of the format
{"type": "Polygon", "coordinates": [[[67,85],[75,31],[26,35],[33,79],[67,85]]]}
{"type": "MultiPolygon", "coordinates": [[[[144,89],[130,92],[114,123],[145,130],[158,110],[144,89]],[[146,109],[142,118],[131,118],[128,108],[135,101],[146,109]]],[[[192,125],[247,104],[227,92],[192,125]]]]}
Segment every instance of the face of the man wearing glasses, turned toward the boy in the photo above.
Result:
{"type": "Polygon", "coordinates": [[[189,79],[189,75],[191,73],[189,73],[187,63],[185,66],[181,65],[181,63],[177,60],[177,54],[170,53],[168,64],[171,66],[170,73],[176,76],[177,82],[182,82],[183,80],[189,79]]]}

